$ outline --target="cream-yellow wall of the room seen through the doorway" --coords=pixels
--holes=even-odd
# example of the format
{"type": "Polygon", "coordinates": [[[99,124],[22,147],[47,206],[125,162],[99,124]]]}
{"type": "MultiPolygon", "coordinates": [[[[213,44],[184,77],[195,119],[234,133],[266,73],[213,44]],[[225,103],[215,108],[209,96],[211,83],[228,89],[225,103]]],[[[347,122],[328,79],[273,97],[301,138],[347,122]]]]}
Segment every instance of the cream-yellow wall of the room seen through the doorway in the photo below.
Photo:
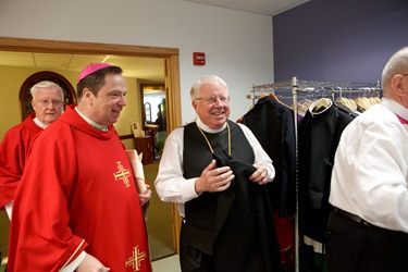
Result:
{"type": "MultiPolygon", "coordinates": [[[[64,76],[74,89],[78,73],[66,71],[49,70],[64,76]]],[[[24,81],[34,73],[40,72],[35,69],[0,66],[0,139],[12,126],[22,122],[20,106],[20,88],[24,81]]],[[[126,107],[121,113],[121,118],[115,124],[119,135],[129,135],[132,133],[131,122],[141,122],[140,94],[136,78],[125,78],[127,85],[126,107]]],[[[133,139],[123,140],[126,148],[134,148],[133,139]]]]}

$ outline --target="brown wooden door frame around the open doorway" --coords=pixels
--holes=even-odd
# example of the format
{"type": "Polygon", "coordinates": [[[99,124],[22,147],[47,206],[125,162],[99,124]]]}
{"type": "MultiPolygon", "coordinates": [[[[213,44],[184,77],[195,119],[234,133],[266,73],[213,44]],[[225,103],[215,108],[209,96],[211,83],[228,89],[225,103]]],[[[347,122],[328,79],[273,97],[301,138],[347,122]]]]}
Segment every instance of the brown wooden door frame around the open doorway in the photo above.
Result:
{"type": "MultiPolygon", "coordinates": [[[[168,132],[171,132],[181,124],[178,49],[0,37],[0,50],[40,53],[115,54],[164,59],[168,132]]],[[[173,243],[174,248],[178,250],[180,218],[175,211],[176,208],[173,205],[171,208],[173,243]]]]}

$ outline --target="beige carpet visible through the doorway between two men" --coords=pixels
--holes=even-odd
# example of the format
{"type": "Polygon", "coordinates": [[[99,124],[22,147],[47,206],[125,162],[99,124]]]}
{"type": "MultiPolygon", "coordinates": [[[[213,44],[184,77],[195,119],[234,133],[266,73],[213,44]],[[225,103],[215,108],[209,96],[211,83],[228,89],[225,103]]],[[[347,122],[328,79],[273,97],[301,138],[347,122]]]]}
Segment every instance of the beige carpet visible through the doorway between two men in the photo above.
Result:
{"type": "Polygon", "coordinates": [[[159,260],[176,254],[173,242],[172,205],[160,200],[154,189],[154,180],[159,169],[159,160],[144,165],[145,178],[150,184],[150,200],[147,231],[149,236],[151,260],[159,260]]]}

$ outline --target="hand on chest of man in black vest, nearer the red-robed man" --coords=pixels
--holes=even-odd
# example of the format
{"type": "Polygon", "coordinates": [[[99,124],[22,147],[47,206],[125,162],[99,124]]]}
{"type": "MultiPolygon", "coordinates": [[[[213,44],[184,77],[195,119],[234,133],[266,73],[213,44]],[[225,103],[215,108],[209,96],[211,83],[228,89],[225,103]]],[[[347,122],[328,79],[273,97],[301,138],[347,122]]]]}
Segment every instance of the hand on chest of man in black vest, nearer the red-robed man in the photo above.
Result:
{"type": "Polygon", "coordinates": [[[230,166],[215,168],[215,160],[202,171],[201,176],[196,180],[196,193],[203,191],[223,191],[231,185],[231,181],[235,178],[230,166]]]}

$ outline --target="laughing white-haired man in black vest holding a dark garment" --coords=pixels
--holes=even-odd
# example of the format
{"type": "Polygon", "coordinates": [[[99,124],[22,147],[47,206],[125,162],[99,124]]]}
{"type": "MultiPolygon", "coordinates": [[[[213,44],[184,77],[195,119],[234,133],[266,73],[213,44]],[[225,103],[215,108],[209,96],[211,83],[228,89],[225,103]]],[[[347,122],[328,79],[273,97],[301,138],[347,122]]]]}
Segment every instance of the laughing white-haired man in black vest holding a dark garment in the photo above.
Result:
{"type": "Polygon", "coordinates": [[[182,271],[277,271],[274,226],[265,223],[272,213],[256,212],[275,175],[272,161],[247,126],[228,120],[222,78],[200,77],[190,96],[198,118],[169,135],[154,182],[183,217],[182,271]]]}

